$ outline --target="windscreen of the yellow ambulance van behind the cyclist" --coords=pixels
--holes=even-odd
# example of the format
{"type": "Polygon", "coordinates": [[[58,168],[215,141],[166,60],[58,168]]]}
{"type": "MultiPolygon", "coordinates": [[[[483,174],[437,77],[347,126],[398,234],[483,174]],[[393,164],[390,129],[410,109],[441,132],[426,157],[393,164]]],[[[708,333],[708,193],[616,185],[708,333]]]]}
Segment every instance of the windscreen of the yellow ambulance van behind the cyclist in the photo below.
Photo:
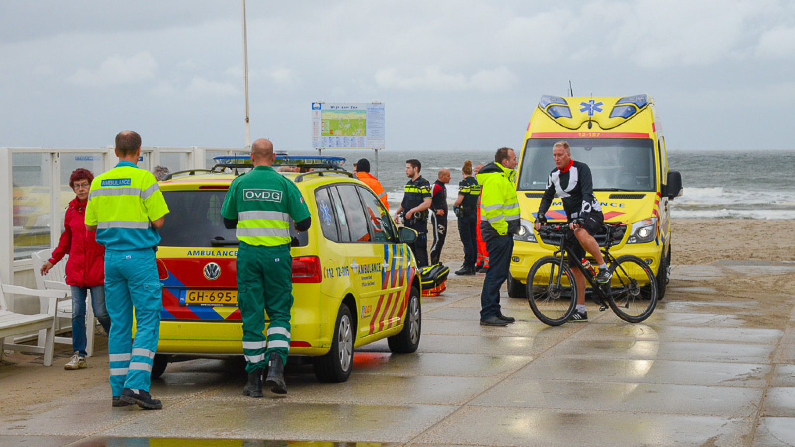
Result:
{"type": "MultiPolygon", "coordinates": [[[[529,138],[525,143],[519,191],[546,189],[555,169],[552,146],[560,138],[529,138]]],[[[654,142],[650,138],[571,138],[572,159],[591,168],[595,191],[654,191],[654,142]]]]}

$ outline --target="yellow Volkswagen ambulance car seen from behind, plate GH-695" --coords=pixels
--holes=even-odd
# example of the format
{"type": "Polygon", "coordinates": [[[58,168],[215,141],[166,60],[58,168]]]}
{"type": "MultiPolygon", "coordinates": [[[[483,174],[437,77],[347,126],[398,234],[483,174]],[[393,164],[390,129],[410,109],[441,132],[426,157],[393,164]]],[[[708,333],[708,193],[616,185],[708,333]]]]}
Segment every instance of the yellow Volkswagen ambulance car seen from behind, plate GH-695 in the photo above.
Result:
{"type": "MultiPolygon", "coordinates": [[[[406,245],[417,233],[398,229],[374,192],[341,169],[340,160],[277,157],[274,164],[315,169],[283,173],[312,213],[309,231],[290,227],[289,354],[311,362],[323,382],[346,380],[359,346],[386,338],[392,352],[414,352],[421,335],[421,278],[406,245]]],[[[171,212],[157,247],[163,310],[153,377],[163,374],[173,354],[242,355],[239,242],[235,230],[223,226],[220,209],[231,181],[251,165],[248,157],[215,161],[217,169],[175,173],[159,184],[171,212]]]]}

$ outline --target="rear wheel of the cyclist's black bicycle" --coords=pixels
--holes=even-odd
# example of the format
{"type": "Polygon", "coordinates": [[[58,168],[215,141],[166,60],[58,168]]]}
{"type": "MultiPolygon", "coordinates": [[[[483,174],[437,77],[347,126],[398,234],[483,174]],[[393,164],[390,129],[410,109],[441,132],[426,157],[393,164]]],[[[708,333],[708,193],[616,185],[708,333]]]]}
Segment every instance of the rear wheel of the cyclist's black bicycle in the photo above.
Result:
{"type": "Polygon", "coordinates": [[[619,256],[610,265],[610,286],[605,287],[610,308],[623,321],[640,323],[657,307],[657,279],[641,258],[619,256]]]}

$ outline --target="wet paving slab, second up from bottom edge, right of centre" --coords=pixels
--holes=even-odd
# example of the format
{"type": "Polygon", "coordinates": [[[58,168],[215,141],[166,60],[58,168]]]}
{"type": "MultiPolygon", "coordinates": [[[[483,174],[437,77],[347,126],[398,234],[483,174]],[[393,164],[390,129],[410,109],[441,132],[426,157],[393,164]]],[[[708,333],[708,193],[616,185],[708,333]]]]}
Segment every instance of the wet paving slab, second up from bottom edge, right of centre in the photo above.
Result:
{"type": "Polygon", "coordinates": [[[471,404],[747,418],[757,411],[763,394],[761,388],[507,379],[471,404]]]}

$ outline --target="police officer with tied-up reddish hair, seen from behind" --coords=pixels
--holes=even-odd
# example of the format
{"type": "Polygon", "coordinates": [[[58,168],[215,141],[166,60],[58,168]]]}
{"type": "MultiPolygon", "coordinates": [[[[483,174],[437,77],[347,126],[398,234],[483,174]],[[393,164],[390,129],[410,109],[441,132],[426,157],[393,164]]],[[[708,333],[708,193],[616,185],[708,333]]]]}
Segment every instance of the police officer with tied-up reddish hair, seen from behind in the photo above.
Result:
{"type": "Polygon", "coordinates": [[[458,184],[458,197],[453,203],[458,217],[458,235],[463,245],[463,265],[456,274],[475,274],[475,256],[478,254],[477,206],[480,197],[480,185],[472,176],[472,162],[463,162],[461,168],[463,180],[458,184]]]}

